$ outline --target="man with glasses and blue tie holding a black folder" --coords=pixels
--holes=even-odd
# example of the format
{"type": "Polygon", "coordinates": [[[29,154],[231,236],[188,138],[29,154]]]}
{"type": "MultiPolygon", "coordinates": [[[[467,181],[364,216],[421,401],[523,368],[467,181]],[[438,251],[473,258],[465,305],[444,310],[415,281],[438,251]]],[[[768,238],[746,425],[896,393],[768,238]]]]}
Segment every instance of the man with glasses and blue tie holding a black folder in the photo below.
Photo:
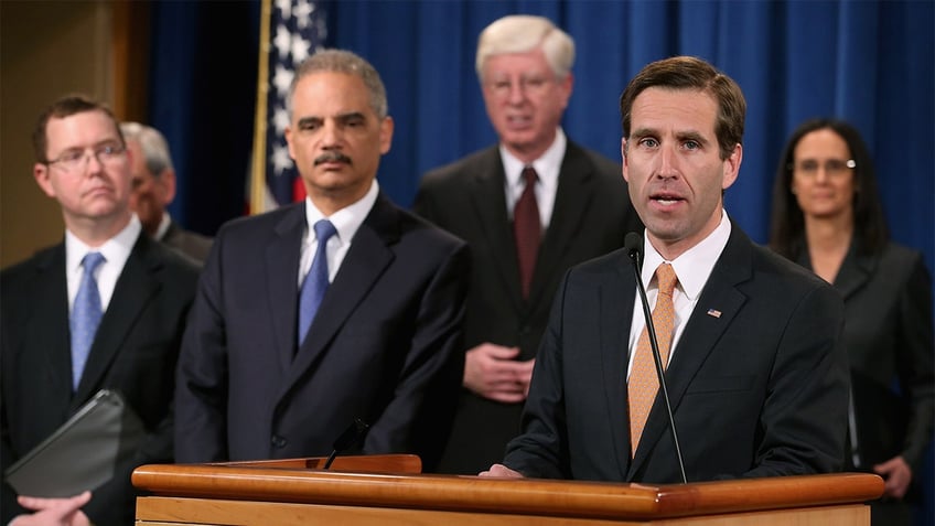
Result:
{"type": "Polygon", "coordinates": [[[56,100],[40,116],[33,146],[33,176],[61,205],[65,238],[0,272],[2,465],[104,388],[123,396],[146,434],[90,494],[18,502],[4,481],[0,516],[17,526],[131,524],[130,473],[172,461],[174,368],[198,269],[151,240],[130,210],[131,159],[107,107],[82,96],[56,100]]]}

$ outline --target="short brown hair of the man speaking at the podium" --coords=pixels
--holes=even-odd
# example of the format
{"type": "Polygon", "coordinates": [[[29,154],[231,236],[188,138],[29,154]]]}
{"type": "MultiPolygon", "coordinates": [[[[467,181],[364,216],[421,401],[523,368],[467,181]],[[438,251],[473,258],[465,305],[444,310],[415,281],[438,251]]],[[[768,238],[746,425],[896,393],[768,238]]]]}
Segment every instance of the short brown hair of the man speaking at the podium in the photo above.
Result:
{"type": "Polygon", "coordinates": [[[651,87],[697,89],[714,97],[718,103],[714,135],[718,137],[721,160],[729,158],[734,148],[743,141],[743,122],[746,117],[743,92],[731,77],[695,56],[673,56],[649,63],[630,80],[620,96],[624,139],[630,138],[633,101],[651,87]]]}

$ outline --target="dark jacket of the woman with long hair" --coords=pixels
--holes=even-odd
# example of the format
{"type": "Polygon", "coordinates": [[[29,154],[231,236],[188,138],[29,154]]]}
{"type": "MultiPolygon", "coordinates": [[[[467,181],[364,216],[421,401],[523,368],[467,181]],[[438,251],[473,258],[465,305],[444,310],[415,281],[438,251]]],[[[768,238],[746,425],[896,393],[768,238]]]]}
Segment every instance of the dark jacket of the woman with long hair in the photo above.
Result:
{"type": "MultiPolygon", "coordinates": [[[[852,246],[834,283],[845,299],[863,463],[856,468],[869,471],[902,454],[917,480],[935,427],[932,279],[918,251],[894,243],[879,255],[857,253],[852,246]]],[[[802,254],[799,264],[810,269],[808,251],[802,254]]]]}

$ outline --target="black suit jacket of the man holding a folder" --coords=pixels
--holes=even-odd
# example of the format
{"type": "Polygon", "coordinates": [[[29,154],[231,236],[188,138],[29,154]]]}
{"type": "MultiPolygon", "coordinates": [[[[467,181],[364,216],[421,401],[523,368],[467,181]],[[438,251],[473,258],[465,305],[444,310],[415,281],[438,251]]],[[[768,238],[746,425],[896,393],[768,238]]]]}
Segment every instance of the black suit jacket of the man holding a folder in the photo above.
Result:
{"type": "MultiPolygon", "coordinates": [[[[136,458],[94,492],[84,511],[95,524],[132,524],[131,471],[144,463],[172,461],[175,362],[197,272],[191,261],[141,233],[101,318],[74,395],[64,244],[0,273],[4,468],[64,423],[98,389],[117,389],[146,423],[148,434],[136,458]]],[[[23,513],[7,484],[2,506],[2,524],[23,513]]]]}

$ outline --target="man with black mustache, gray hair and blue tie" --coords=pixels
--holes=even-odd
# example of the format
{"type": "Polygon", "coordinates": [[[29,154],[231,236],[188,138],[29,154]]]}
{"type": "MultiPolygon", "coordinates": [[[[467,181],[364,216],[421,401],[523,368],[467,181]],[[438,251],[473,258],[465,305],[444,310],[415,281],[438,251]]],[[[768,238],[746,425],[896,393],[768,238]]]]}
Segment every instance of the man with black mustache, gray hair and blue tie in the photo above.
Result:
{"type": "Polygon", "coordinates": [[[466,246],[379,191],[394,122],[369,63],[315,53],[288,110],[308,197],[215,237],[180,358],[176,460],[327,455],[361,419],[359,451],[430,470],[464,366],[466,246]]]}

